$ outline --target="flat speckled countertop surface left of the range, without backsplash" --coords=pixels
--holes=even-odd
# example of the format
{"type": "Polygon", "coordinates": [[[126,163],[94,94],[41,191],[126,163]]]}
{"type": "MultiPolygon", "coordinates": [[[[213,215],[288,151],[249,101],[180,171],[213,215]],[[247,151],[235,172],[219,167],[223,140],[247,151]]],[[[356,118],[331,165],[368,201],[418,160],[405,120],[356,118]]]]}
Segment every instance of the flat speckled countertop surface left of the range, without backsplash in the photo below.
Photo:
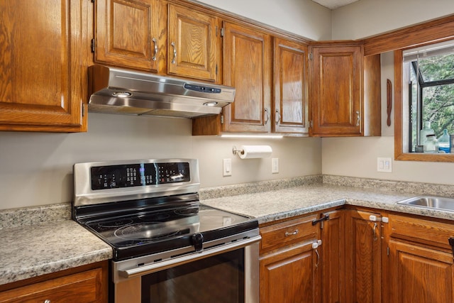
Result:
{"type": "Polygon", "coordinates": [[[75,221],[0,229],[0,285],[112,258],[112,249],[75,221]]]}

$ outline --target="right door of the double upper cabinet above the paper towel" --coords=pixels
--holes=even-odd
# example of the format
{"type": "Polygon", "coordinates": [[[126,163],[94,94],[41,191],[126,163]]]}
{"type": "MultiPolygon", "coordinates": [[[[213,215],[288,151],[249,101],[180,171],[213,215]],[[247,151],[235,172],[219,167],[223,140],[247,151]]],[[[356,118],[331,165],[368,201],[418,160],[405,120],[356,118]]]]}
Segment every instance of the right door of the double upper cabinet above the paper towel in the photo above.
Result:
{"type": "Polygon", "coordinates": [[[308,133],[307,46],[275,38],[273,131],[308,133]]]}

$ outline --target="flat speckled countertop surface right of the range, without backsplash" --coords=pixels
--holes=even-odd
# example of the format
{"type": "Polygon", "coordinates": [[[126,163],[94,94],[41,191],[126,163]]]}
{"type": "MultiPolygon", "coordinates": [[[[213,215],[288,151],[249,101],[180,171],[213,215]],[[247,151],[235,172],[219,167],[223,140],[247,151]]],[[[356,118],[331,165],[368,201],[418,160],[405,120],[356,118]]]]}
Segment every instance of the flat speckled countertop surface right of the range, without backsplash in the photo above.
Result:
{"type": "Polygon", "coordinates": [[[271,192],[206,199],[201,202],[227,211],[254,216],[258,219],[259,224],[309,214],[344,204],[454,220],[453,212],[397,204],[400,200],[414,196],[414,194],[401,194],[380,189],[312,184],[271,192]]]}

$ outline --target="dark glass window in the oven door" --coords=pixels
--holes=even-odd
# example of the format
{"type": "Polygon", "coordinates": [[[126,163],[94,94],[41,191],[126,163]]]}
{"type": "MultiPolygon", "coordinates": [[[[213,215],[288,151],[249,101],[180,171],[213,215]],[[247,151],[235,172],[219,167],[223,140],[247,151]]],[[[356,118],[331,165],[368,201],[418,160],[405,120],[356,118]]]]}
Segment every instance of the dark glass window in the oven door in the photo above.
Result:
{"type": "Polygon", "coordinates": [[[243,303],[244,248],[142,277],[142,302],[243,303]]]}

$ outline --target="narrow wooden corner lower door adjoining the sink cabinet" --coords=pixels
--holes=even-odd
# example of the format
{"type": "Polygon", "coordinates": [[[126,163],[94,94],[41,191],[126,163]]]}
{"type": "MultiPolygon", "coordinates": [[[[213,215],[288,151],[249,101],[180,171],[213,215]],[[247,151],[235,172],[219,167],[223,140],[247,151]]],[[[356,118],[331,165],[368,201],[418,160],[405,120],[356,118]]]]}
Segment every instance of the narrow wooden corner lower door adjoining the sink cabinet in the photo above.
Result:
{"type": "Polygon", "coordinates": [[[381,302],[381,227],[367,211],[346,211],[345,302],[381,302]]]}

